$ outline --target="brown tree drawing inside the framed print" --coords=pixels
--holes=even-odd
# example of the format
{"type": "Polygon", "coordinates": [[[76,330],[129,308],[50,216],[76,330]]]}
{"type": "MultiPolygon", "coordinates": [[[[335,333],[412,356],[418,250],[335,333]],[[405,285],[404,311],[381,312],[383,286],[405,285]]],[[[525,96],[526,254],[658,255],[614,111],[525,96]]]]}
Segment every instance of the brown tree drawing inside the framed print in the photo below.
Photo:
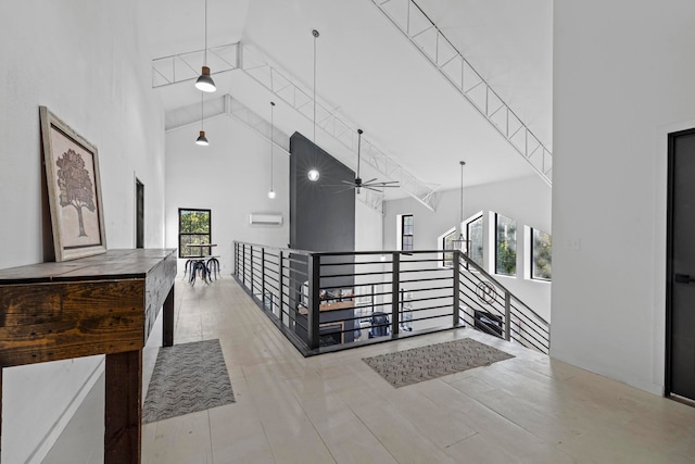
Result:
{"type": "Polygon", "coordinates": [[[85,168],[85,160],[75,150],[67,150],[58,161],[58,188],[61,191],[61,206],[73,206],[77,210],[79,222],[79,237],[87,237],[83,221],[83,208],[93,212],[94,204],[93,185],[89,178],[89,172],[85,168]]]}

